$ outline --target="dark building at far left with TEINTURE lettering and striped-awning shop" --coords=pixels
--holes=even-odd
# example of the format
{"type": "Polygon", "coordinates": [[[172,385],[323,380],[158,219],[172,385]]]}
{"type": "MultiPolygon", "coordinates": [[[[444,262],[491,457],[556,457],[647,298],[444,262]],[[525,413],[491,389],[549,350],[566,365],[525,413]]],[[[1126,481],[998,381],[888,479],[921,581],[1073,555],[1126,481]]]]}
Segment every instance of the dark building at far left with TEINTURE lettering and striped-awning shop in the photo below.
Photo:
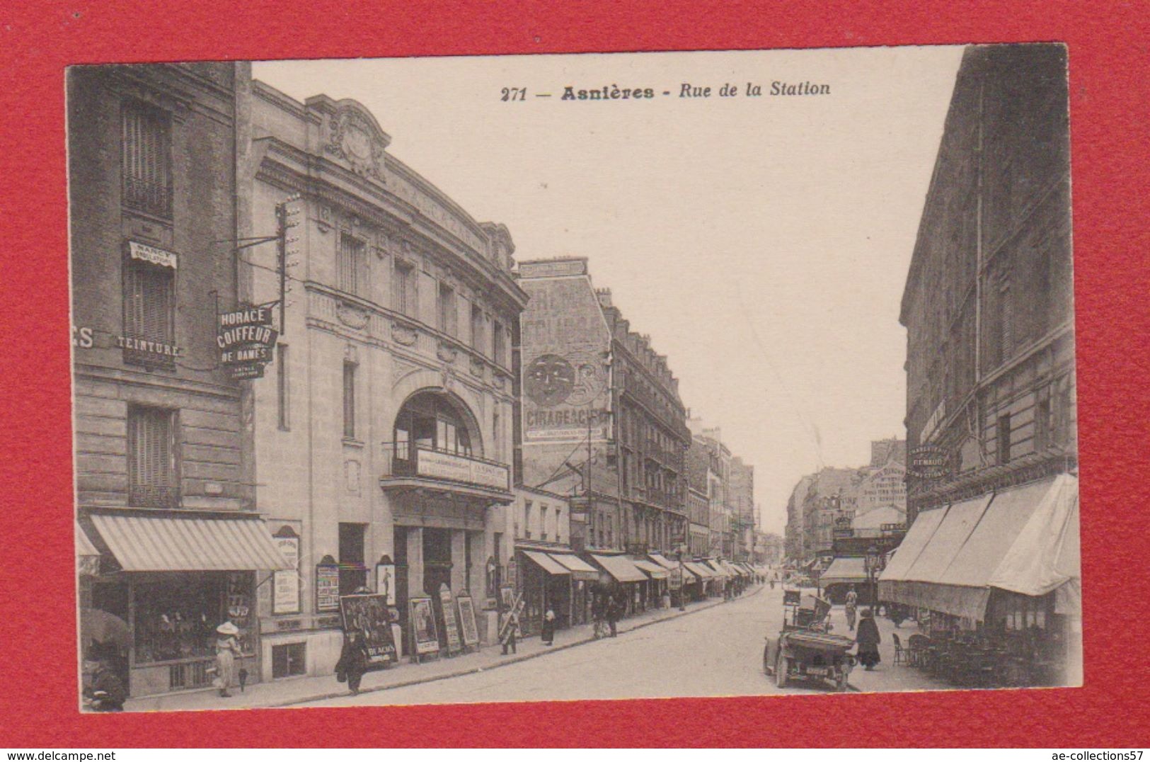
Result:
{"type": "Polygon", "coordinates": [[[241,298],[247,78],[243,63],[67,77],[80,649],[131,695],[208,685],[229,619],[259,679],[258,582],[285,567],[255,513],[248,382],[216,348],[216,313],[241,298]]]}

